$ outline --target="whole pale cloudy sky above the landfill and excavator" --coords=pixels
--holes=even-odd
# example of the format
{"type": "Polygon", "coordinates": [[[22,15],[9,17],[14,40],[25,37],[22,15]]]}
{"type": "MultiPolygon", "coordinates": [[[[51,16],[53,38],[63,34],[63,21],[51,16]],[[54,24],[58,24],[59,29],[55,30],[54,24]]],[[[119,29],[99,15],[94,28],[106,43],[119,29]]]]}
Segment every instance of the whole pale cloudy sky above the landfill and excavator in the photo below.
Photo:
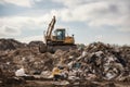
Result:
{"type": "Polygon", "coordinates": [[[130,0],[0,0],[0,38],[43,40],[53,15],[77,44],[130,45],[130,0]]]}

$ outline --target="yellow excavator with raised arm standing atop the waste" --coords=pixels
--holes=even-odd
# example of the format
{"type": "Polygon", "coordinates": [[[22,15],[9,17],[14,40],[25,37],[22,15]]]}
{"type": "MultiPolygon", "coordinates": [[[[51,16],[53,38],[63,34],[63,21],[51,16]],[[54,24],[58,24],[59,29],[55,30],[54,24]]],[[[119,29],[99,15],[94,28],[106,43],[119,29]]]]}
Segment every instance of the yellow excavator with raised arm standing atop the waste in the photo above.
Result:
{"type": "Polygon", "coordinates": [[[47,33],[44,33],[44,45],[39,46],[41,53],[52,52],[54,53],[57,49],[69,50],[76,49],[74,35],[68,36],[65,28],[56,28],[54,32],[55,16],[53,16],[51,23],[48,26],[47,33]]]}

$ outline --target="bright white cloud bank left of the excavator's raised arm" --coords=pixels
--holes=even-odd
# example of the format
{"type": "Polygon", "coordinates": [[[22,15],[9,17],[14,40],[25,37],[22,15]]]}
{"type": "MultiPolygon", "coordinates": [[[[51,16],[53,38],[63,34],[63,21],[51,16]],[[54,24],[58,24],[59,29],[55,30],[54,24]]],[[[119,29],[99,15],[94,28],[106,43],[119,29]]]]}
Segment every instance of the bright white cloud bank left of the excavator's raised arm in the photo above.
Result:
{"type": "Polygon", "coordinates": [[[41,16],[4,16],[0,17],[0,35],[18,36],[22,29],[38,29],[48,27],[51,14],[41,16]],[[10,32],[9,32],[10,30],[10,32]]]}

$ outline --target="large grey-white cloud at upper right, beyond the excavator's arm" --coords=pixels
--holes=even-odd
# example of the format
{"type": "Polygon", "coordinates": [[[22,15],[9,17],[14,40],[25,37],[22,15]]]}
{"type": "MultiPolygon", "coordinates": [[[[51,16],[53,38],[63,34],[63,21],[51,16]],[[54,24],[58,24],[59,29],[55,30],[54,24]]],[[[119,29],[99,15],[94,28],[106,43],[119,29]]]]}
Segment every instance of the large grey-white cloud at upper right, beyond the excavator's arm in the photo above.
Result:
{"type": "Polygon", "coordinates": [[[91,27],[116,26],[119,30],[130,32],[129,0],[54,0],[66,5],[62,9],[62,21],[86,22],[91,27]],[[94,2],[93,2],[94,1],[94,2]]]}

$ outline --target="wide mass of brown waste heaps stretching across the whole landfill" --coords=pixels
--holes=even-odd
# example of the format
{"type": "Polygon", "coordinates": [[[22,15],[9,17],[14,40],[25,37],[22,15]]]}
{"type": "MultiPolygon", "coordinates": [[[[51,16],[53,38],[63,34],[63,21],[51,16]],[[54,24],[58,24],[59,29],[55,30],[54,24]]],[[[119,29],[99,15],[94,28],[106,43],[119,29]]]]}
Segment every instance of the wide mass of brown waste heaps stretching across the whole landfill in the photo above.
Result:
{"type": "Polygon", "coordinates": [[[55,67],[65,67],[68,80],[130,82],[130,46],[93,42],[52,54],[40,53],[40,44],[0,39],[0,80],[36,74],[49,78],[55,67]]]}

